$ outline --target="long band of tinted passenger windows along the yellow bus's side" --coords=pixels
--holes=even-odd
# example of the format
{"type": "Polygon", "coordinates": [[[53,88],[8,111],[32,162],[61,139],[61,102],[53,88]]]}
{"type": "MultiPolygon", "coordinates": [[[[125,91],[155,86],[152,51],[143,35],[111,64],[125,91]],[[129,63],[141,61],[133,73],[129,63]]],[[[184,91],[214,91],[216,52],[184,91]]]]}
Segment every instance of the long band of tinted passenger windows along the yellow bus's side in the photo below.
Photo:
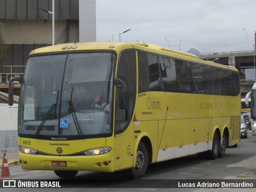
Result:
{"type": "Polygon", "coordinates": [[[237,96],[237,72],[170,57],[138,52],[138,91],[166,91],[237,96]]]}

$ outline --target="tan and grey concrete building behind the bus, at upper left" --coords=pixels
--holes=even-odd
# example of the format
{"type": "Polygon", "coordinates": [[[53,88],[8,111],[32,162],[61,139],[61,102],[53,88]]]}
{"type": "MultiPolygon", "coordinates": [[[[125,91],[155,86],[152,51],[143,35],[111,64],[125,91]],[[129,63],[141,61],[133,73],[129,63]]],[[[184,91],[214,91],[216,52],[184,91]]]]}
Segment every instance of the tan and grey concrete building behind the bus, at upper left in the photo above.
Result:
{"type": "MultiPolygon", "coordinates": [[[[0,91],[22,76],[31,50],[52,44],[52,0],[0,0],[7,55],[0,61],[0,91]]],[[[96,0],[54,0],[54,43],[96,41],[96,0]]],[[[18,90],[17,86],[17,90],[18,90]]]]}

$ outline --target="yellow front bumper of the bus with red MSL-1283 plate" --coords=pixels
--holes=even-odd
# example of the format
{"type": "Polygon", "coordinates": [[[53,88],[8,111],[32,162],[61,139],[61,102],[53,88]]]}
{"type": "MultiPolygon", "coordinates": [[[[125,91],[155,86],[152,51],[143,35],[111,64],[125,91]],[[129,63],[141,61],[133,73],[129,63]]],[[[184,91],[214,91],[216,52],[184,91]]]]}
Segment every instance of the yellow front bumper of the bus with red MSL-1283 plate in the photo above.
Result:
{"type": "Polygon", "coordinates": [[[114,172],[114,149],[106,154],[91,156],[32,155],[19,151],[19,159],[24,170],[114,172]]]}

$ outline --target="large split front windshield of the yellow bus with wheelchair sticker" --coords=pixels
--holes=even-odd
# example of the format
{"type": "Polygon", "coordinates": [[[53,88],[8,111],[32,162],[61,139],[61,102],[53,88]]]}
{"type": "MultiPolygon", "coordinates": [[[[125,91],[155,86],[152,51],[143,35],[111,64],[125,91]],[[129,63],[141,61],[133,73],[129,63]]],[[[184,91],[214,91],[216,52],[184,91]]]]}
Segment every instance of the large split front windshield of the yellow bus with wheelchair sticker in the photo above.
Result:
{"type": "Polygon", "coordinates": [[[114,61],[110,52],[30,57],[22,82],[18,133],[111,134],[114,61]]]}

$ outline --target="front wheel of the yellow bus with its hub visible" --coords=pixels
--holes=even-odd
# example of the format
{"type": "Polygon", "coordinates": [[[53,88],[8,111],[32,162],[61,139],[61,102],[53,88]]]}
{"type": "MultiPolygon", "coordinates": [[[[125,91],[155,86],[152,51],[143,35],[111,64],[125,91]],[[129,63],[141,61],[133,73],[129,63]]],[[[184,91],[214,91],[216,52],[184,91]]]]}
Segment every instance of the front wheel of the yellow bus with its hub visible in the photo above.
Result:
{"type": "Polygon", "coordinates": [[[143,142],[139,143],[136,153],[136,166],[130,168],[130,175],[132,178],[142,178],[148,168],[148,150],[143,142]]]}

